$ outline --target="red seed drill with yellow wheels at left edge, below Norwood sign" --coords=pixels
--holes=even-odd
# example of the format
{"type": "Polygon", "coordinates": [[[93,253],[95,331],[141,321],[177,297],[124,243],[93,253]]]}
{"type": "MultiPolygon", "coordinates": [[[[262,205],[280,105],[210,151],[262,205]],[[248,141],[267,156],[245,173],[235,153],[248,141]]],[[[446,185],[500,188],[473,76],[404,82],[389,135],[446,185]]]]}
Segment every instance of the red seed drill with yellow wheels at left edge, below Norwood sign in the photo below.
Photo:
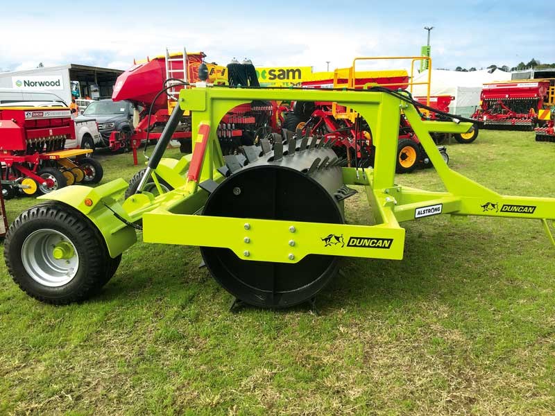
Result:
{"type": "Polygon", "coordinates": [[[3,196],[49,193],[81,182],[102,179],[101,164],[87,157],[90,149],[65,149],[75,137],[69,108],[3,107],[0,109],[0,163],[3,196]]]}

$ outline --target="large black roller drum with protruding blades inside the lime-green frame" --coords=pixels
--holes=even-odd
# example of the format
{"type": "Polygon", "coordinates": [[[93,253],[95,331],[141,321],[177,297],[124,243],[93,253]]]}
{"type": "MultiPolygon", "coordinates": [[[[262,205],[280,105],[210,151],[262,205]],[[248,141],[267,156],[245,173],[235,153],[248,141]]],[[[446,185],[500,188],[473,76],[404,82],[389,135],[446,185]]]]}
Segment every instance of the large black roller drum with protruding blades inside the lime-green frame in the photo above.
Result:
{"type": "MultiPolygon", "coordinates": [[[[285,150],[275,144],[265,155],[264,146],[249,146],[247,158],[226,157],[232,173],[210,195],[203,215],[343,223],[343,200],[335,195],[343,187],[342,161],[327,144],[316,146],[316,139],[311,146],[307,138],[290,142],[285,150]]],[[[305,302],[338,270],[334,256],[310,254],[289,264],[239,259],[228,248],[200,250],[216,281],[255,306],[284,308],[305,302]]]]}

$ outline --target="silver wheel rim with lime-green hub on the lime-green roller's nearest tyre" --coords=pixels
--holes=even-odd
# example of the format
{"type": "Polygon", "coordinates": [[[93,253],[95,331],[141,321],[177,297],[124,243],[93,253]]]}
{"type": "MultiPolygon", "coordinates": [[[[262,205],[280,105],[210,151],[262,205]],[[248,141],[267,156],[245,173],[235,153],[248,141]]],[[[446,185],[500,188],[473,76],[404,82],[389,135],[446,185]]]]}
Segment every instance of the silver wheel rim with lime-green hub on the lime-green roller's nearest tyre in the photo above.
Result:
{"type": "Polygon", "coordinates": [[[59,287],[74,279],[79,268],[79,255],[65,234],[55,229],[38,229],[23,242],[22,262],[31,279],[44,286],[59,287]],[[69,259],[54,257],[53,249],[62,241],[73,248],[74,254],[69,259]]]}

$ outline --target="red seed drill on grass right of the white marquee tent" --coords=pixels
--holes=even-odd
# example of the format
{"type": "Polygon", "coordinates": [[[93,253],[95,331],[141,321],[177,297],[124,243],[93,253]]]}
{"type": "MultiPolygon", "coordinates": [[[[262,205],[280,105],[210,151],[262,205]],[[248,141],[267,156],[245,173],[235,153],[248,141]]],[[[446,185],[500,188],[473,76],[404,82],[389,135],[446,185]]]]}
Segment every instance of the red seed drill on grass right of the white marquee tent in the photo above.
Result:
{"type": "Polygon", "coordinates": [[[539,125],[545,128],[542,133],[549,135],[552,119],[549,107],[555,105],[554,81],[511,80],[484,84],[480,107],[472,114],[472,119],[494,130],[531,131],[539,125]]]}

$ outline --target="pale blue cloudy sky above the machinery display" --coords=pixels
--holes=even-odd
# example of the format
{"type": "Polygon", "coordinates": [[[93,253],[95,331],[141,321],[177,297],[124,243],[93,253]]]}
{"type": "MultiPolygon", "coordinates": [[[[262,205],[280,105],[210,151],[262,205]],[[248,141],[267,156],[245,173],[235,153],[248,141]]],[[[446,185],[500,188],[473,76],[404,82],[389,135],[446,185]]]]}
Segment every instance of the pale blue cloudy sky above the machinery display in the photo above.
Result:
{"type": "Polygon", "coordinates": [[[27,0],[2,11],[3,71],[39,62],[127,69],[166,46],[224,65],[248,57],[258,67],[322,71],[355,56],[419,55],[423,26],[434,26],[436,68],[555,62],[550,1],[27,0]]]}

